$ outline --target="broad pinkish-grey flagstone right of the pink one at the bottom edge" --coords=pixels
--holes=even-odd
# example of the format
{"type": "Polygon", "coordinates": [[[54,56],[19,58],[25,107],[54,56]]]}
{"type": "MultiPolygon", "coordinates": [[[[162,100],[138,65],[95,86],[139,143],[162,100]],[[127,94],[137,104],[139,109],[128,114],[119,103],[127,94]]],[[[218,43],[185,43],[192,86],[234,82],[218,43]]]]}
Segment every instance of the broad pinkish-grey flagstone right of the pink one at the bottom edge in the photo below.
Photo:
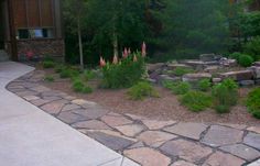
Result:
{"type": "Polygon", "coordinates": [[[192,163],[199,162],[213,152],[209,147],[185,140],[169,141],[160,150],[172,157],[180,157],[192,163]]]}

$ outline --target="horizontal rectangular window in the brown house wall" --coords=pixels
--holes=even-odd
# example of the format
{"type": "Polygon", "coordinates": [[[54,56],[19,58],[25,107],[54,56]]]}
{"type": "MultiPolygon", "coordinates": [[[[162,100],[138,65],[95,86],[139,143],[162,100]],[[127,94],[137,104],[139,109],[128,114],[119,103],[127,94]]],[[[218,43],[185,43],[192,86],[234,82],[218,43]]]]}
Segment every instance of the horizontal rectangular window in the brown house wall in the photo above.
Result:
{"type": "Polygon", "coordinates": [[[53,38],[53,29],[19,29],[18,40],[53,38]]]}

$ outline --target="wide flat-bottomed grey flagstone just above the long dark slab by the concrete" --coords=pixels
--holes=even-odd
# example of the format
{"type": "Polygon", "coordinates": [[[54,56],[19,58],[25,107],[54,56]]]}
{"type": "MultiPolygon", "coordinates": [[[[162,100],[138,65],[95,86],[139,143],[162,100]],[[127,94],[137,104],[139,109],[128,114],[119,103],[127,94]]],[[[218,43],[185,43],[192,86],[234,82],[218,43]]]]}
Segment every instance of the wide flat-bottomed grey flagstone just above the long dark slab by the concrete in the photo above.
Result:
{"type": "Polygon", "coordinates": [[[77,129],[88,129],[88,130],[111,130],[111,128],[109,128],[107,124],[98,120],[77,122],[72,126],[77,129]]]}

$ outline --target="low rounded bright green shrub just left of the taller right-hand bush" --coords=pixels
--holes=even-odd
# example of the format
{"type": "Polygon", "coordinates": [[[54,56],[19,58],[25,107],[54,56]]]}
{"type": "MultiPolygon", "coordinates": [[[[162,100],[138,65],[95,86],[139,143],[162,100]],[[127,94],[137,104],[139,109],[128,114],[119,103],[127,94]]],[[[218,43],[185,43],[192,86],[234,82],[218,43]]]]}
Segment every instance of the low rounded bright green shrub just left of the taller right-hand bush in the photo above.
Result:
{"type": "Polygon", "coordinates": [[[181,103],[191,111],[199,112],[212,106],[212,97],[201,91],[188,91],[181,97],[181,103]]]}

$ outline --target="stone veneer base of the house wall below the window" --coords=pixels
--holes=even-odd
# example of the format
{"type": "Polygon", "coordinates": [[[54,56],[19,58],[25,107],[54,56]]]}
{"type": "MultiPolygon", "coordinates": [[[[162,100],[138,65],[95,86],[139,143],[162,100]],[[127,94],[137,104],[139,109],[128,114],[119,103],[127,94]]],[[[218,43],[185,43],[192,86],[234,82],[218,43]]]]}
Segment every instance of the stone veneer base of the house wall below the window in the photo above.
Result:
{"type": "Polygon", "coordinates": [[[64,40],[24,40],[18,41],[18,55],[25,55],[32,51],[35,55],[43,57],[45,55],[54,57],[64,57],[65,44],[64,40]]]}

